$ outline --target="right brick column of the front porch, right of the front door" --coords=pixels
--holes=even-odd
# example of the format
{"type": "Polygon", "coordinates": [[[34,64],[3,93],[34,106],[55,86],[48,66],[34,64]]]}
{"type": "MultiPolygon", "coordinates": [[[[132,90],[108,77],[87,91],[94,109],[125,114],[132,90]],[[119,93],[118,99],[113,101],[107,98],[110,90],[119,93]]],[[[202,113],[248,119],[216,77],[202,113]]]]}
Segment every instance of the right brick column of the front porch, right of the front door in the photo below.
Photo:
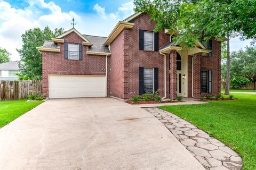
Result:
{"type": "Polygon", "coordinates": [[[194,55],[194,98],[198,99],[201,94],[201,54],[194,55]]]}

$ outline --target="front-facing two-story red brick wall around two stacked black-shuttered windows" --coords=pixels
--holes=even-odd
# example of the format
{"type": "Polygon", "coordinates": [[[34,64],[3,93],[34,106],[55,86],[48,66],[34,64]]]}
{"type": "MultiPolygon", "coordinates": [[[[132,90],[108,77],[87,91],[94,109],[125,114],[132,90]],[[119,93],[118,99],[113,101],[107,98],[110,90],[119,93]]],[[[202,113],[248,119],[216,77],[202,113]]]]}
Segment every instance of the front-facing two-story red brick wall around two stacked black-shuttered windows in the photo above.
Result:
{"type": "MultiPolygon", "coordinates": [[[[124,98],[139,94],[139,67],[158,67],[159,94],[164,96],[164,56],[159,52],[139,50],[139,30],[153,31],[156,22],[150,21],[150,16],[141,14],[133,19],[134,27],[125,29],[124,33],[124,98]]],[[[170,35],[159,32],[159,47],[170,40],[170,35]]],[[[111,52],[113,45],[111,45],[111,52]]],[[[112,57],[112,56],[111,56],[112,57]]],[[[166,96],[169,96],[169,56],[166,56],[166,96]]]]}

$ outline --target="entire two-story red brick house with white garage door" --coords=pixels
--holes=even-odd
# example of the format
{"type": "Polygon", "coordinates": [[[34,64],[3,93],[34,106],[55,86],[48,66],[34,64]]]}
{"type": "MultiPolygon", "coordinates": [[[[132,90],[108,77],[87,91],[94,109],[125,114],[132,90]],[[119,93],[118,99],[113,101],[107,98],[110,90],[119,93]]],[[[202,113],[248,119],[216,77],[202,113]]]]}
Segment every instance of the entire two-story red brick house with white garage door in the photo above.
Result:
{"type": "Polygon", "coordinates": [[[108,37],[72,28],[38,47],[43,55],[43,93],[50,98],[130,99],[159,90],[163,98],[217,95],[221,88],[221,40],[198,40],[187,50],[175,33],[153,32],[156,22],[135,13],[108,37]]]}

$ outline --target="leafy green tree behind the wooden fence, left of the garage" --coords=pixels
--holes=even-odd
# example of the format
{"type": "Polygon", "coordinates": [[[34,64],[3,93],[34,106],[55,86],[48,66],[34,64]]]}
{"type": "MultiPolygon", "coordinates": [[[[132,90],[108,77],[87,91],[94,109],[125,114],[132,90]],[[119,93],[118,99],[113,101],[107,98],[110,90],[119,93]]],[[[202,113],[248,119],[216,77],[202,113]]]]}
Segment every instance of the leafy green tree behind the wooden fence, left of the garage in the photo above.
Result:
{"type": "Polygon", "coordinates": [[[22,48],[17,49],[21,56],[23,64],[19,64],[20,75],[29,79],[42,79],[42,54],[38,52],[36,47],[42,46],[45,40],[58,37],[63,33],[63,29],[54,29],[45,27],[44,30],[34,28],[27,30],[22,34],[22,48]]]}

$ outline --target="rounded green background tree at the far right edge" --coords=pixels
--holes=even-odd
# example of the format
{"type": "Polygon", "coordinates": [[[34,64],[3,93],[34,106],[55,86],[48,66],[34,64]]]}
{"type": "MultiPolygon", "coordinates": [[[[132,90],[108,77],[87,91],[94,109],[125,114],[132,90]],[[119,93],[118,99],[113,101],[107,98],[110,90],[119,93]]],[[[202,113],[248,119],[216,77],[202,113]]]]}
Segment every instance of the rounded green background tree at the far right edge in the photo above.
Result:
{"type": "Polygon", "coordinates": [[[250,80],[256,89],[256,48],[247,47],[231,54],[230,70],[236,76],[250,80]]]}

